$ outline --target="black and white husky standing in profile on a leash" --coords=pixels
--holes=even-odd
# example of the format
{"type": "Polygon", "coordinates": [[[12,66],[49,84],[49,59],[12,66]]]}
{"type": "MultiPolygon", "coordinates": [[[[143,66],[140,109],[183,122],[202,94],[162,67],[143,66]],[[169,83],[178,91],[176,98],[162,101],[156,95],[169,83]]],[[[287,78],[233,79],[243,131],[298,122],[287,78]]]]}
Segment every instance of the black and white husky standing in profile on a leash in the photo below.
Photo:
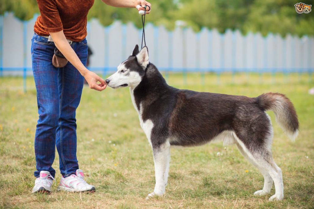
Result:
{"type": "Polygon", "coordinates": [[[130,87],[140,125],[153,149],[156,184],[146,199],[165,193],[171,146],[198,146],[217,139],[236,144],[263,174],[263,189],[254,195],[270,193],[274,182],[276,191],[269,201],[284,198],[281,169],[272,158],[273,127],[265,111],[275,113],[277,123],[294,141],[299,122],[285,95],[266,93],[249,98],[171,87],[149,62],[146,46],[139,51],[136,45],[117,68],[106,83],[114,89],[130,87]]]}

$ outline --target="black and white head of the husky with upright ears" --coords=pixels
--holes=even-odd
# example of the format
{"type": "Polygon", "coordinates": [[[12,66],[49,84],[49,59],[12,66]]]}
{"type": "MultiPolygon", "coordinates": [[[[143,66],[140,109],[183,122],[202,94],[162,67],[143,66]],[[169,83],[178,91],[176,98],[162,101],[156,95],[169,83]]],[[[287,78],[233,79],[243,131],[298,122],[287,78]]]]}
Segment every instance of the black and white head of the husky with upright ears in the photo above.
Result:
{"type": "Polygon", "coordinates": [[[148,64],[147,47],[144,46],[139,51],[138,45],[136,45],[131,56],[117,67],[117,72],[107,78],[106,83],[114,89],[123,87],[135,88],[141,83],[148,64]]]}

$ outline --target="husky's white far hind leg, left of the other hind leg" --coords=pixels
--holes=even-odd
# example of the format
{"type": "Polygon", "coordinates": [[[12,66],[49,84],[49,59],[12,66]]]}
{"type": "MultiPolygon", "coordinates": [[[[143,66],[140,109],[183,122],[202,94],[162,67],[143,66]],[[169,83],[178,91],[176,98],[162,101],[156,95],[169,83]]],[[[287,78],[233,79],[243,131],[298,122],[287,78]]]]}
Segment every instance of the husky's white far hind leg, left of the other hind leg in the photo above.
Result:
{"type": "Polygon", "coordinates": [[[243,148],[241,147],[241,145],[238,142],[236,143],[236,146],[238,147],[238,149],[241,152],[241,154],[250,163],[252,163],[255,167],[257,167],[258,170],[263,174],[263,177],[264,177],[263,190],[257,190],[256,192],[254,192],[254,195],[263,196],[263,195],[269,194],[270,190],[271,190],[271,188],[273,186],[273,179],[272,179],[272,177],[268,174],[268,172],[266,170],[264,170],[261,166],[258,166],[258,164],[256,162],[254,162],[254,160],[252,158],[249,157],[249,155],[243,150],[243,148]]]}

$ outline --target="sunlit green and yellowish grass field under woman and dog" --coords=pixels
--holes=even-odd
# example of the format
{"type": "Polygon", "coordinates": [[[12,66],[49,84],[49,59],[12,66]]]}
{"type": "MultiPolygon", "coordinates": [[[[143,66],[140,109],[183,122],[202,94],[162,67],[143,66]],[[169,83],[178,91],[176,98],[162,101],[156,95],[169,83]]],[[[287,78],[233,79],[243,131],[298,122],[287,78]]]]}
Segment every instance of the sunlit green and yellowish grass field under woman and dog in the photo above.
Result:
{"type": "MultiPolygon", "coordinates": [[[[300,134],[292,143],[274,121],[273,158],[282,169],[284,200],[269,202],[253,192],[263,188],[263,176],[238,152],[222,142],[202,147],[171,149],[166,193],[145,201],[154,190],[152,150],[140,128],[129,89],[96,92],[84,87],[77,110],[78,161],[94,194],[56,191],[33,195],[34,134],[38,119],[33,78],[26,93],[20,77],[0,78],[0,208],[313,208],[314,207],[314,87],[309,75],[223,74],[220,85],[206,74],[171,74],[170,85],[196,91],[256,97],[265,92],[286,94],[300,120],[300,134]],[[262,81],[262,82],[261,82],[262,81]],[[285,83],[287,81],[288,83],[285,83]],[[220,156],[217,153],[221,153],[220,156]]],[[[188,120],[188,119],[187,119],[188,120]]]]}

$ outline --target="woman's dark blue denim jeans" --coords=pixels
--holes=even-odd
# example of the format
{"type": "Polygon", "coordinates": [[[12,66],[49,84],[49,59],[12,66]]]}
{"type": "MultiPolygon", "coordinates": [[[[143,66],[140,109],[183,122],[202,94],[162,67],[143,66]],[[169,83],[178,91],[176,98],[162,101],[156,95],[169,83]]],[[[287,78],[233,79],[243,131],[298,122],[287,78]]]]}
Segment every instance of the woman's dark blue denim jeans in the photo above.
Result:
{"type": "MultiPolygon", "coordinates": [[[[64,177],[75,174],[78,169],[75,111],[81,100],[84,77],[70,62],[62,68],[52,65],[55,47],[47,38],[34,34],[31,54],[39,114],[35,133],[35,177],[39,177],[41,170],[55,176],[52,168],[55,147],[64,177]]],[[[73,42],[71,47],[85,65],[86,39],[73,42]]]]}

